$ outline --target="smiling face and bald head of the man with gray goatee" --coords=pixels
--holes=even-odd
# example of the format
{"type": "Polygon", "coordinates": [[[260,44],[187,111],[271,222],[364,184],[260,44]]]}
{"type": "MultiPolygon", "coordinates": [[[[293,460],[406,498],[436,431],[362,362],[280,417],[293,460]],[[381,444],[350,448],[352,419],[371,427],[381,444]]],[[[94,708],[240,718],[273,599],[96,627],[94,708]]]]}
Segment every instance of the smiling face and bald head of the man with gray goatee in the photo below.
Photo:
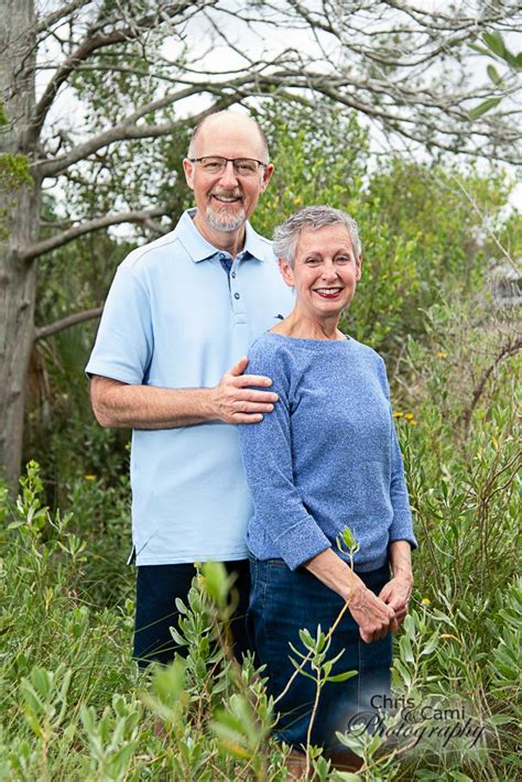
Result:
{"type": "MultiPolygon", "coordinates": [[[[263,161],[265,152],[255,126],[240,115],[233,119],[207,122],[197,139],[195,158],[218,155],[263,161]]],[[[203,166],[183,162],[188,186],[194,191],[199,219],[211,231],[239,230],[254,210],[259,196],[272,176],[273,166],[259,166],[254,174],[237,174],[231,163],[225,171],[209,174],[203,166]]]]}

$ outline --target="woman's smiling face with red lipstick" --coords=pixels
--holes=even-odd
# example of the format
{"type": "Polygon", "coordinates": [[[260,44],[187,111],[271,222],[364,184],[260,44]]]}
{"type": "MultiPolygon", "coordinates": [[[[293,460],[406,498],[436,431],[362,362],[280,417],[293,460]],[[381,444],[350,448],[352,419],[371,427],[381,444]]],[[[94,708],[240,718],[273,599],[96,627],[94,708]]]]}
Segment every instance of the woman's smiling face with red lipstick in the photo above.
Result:
{"type": "Polygon", "coordinates": [[[338,316],[347,307],[361,276],[350,236],[341,224],[305,229],[295,250],[294,268],[280,261],[281,273],[303,314],[317,318],[338,316]]]}

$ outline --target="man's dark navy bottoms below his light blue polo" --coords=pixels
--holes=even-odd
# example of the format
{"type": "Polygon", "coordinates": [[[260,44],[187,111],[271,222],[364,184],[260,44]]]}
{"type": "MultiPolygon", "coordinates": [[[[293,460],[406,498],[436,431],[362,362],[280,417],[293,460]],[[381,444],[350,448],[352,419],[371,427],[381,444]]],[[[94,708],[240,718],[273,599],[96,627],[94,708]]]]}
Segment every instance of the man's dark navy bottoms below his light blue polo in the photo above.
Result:
{"type": "MultiPolygon", "coordinates": [[[[233,589],[238,590],[239,601],[230,622],[233,641],[233,654],[240,661],[247,651],[252,651],[247,633],[247,609],[250,593],[250,571],[248,560],[226,562],[227,572],[237,578],[233,589]]],[[[140,565],[135,588],[135,626],[133,658],[140,667],[146,667],[152,661],[168,663],[177,652],[186,654],[186,647],[178,647],[172,638],[170,628],[177,629],[180,612],[176,598],[187,605],[187,595],[192,579],[196,575],[193,564],[178,565],[140,565]]]]}

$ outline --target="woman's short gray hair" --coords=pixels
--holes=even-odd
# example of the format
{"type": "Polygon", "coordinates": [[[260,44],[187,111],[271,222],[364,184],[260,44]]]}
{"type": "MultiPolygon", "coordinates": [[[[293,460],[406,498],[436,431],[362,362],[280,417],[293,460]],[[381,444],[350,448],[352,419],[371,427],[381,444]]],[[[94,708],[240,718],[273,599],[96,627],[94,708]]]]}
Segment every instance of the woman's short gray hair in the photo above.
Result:
{"type": "Polygon", "coordinates": [[[355,219],[341,209],[334,209],[331,206],[305,206],[292,217],[289,217],[282,226],[274,231],[273,251],[278,258],[284,260],[294,268],[295,250],[297,242],[304,230],[317,230],[325,226],[342,225],[351,240],[354,254],[359,258],[361,242],[359,239],[359,227],[355,219]]]}

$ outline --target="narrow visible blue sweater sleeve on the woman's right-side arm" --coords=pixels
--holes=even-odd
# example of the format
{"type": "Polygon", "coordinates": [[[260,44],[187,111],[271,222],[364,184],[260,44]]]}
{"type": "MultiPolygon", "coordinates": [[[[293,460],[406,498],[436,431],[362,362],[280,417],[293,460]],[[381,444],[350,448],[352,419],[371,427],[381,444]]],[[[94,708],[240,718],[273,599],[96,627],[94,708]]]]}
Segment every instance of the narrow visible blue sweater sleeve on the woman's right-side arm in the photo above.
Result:
{"type": "Polygon", "coordinates": [[[407,497],[406,479],[404,476],[404,465],[402,460],[401,447],[393,423],[392,408],[390,402],[390,387],[384,361],[380,358],[381,382],[384,393],[390,403],[390,426],[391,426],[391,481],[390,500],[393,508],[393,520],[390,526],[390,543],[393,541],[407,541],[412,549],[417,547],[415,535],[413,534],[412,511],[407,497]]]}

